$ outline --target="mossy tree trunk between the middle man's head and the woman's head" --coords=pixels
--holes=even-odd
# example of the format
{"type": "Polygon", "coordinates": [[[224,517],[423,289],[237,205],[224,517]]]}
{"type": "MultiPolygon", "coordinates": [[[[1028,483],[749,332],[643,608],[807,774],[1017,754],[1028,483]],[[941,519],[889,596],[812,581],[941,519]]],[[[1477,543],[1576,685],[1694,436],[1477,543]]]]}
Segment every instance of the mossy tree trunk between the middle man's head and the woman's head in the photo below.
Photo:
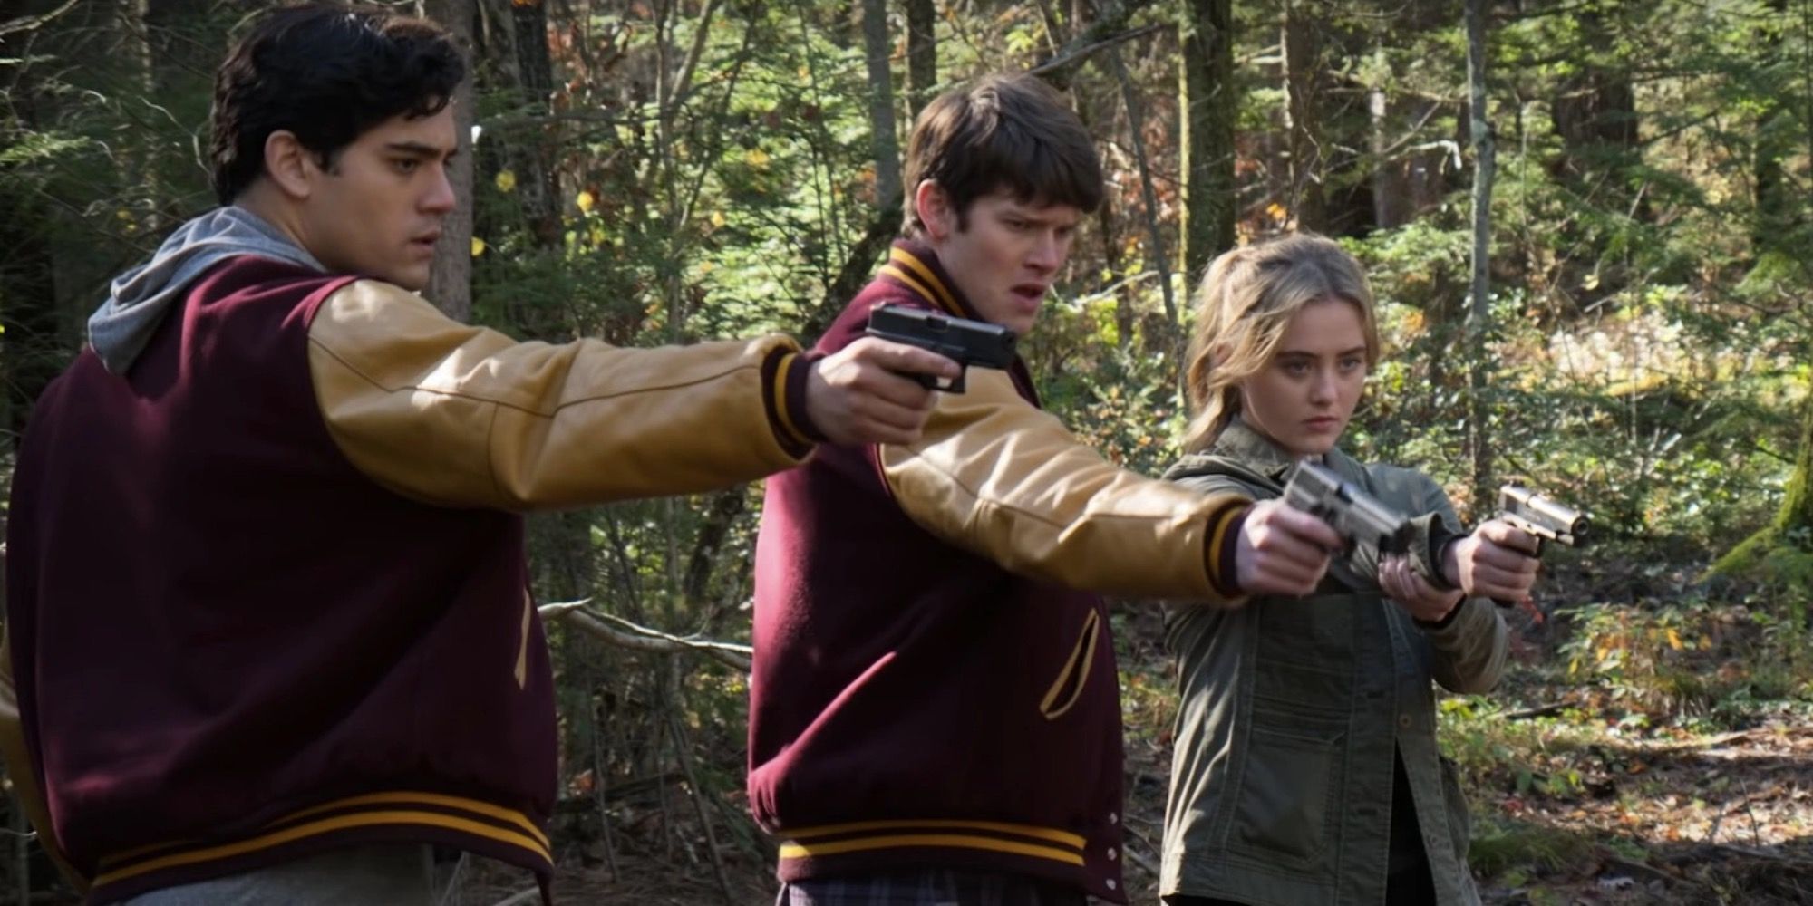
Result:
{"type": "Polygon", "coordinates": [[[1231,0],[1182,0],[1178,20],[1184,274],[1235,246],[1235,47],[1231,0]]]}

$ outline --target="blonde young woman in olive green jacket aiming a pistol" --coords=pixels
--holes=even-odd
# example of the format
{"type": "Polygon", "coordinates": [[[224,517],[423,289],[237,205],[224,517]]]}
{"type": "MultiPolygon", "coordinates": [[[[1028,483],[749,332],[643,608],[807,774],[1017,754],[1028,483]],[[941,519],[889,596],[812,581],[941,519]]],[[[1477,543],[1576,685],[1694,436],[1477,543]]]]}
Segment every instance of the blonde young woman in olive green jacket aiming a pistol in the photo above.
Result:
{"type": "MultiPolygon", "coordinates": [[[[1467,806],[1436,747],[1430,680],[1492,689],[1507,631],[1490,598],[1530,591],[1536,540],[1470,535],[1414,469],[1338,448],[1378,361],[1360,265],[1320,236],[1218,257],[1189,357],[1195,419],[1169,478],[1262,500],[1314,458],[1412,515],[1407,556],[1360,545],[1302,596],[1177,607],[1182,708],[1164,828],[1168,904],[1470,904],[1467,806]]],[[[1244,531],[1238,544],[1267,544],[1244,531]]]]}

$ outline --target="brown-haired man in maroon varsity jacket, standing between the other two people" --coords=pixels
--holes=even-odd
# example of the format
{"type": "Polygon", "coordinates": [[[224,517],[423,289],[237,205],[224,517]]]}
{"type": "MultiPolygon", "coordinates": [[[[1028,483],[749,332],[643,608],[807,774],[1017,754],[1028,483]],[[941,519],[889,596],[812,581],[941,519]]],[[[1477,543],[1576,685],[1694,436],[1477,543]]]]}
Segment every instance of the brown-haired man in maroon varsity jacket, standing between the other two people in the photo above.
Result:
{"type": "MultiPolygon", "coordinates": [[[[906,237],[818,341],[881,303],[1024,333],[1102,199],[1095,145],[1028,76],[932,101],[906,237]]],[[[1300,594],[1340,540],[1276,502],[1122,471],[972,370],[925,437],[830,446],[767,482],[749,797],[781,906],[1122,902],[1120,705],[1093,593],[1300,594]],[[1088,591],[1082,591],[1088,589],[1088,591]]]]}

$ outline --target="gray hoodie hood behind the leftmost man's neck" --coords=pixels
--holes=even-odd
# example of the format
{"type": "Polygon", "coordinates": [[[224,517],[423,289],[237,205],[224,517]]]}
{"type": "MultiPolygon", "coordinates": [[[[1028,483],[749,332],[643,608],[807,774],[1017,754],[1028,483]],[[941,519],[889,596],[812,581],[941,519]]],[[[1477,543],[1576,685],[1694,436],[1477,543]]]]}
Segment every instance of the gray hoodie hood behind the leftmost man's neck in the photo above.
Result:
{"type": "Polygon", "coordinates": [[[214,208],[181,226],[150,261],[112,281],[112,295],[89,315],[89,346],[112,373],[125,373],[189,284],[228,257],[259,255],[310,270],[326,268],[259,216],[214,208]]]}

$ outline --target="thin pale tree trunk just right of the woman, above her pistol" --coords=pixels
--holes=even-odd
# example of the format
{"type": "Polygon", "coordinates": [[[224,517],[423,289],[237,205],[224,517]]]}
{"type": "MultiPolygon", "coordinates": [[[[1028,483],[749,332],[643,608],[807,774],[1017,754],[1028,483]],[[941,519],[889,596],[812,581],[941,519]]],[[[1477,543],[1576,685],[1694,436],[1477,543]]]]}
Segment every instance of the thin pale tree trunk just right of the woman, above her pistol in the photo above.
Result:
{"type": "Polygon", "coordinates": [[[1485,94],[1485,16],[1488,0],[1467,0],[1467,91],[1470,98],[1470,125],[1474,147],[1474,185],[1472,185],[1472,290],[1467,308],[1467,352],[1469,352],[1469,393],[1467,393],[1467,437],[1472,448],[1472,515],[1481,518],[1492,507],[1492,431],[1487,424],[1488,408],[1485,400],[1487,371],[1487,330],[1492,317],[1492,176],[1496,172],[1496,150],[1492,147],[1492,123],[1487,120],[1485,94]]]}

